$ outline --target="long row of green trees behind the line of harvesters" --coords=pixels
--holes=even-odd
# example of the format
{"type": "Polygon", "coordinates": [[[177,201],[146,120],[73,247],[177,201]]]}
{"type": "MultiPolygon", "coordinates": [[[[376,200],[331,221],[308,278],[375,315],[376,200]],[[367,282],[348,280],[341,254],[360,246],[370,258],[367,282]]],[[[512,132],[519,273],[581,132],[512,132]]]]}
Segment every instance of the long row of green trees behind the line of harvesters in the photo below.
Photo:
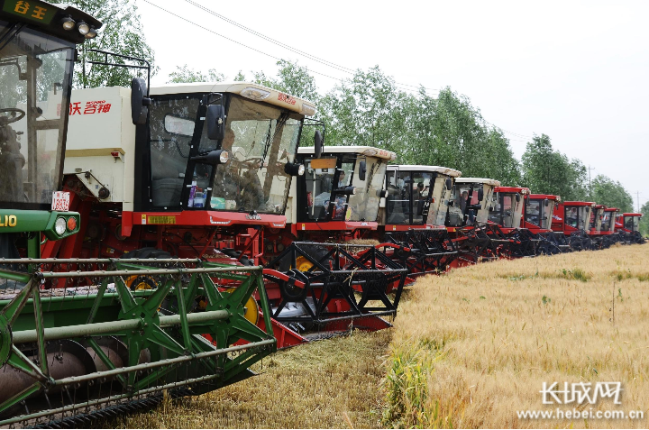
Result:
{"type": "MultiPolygon", "coordinates": [[[[357,70],[352,78],[320,94],[308,69],[287,60],[277,65],[276,75],[252,71],[251,80],[317,103],[316,119],[326,124],[326,145],[374,146],[396,152],[402,164],[445,166],[461,170],[464,177],[495,178],[505,186],[526,186],[563,200],[589,199],[588,170],[580,160],[554,151],[545,134],[527,143],[522,162],[516,160],[505,133],[487,123],[467,96],[451,88],[443,88],[438,96],[427,94],[425,88],[404,91],[377,66],[357,70]]],[[[223,77],[215,70],[210,75],[223,77]]],[[[187,66],[172,74],[176,82],[193,82],[196,77],[205,75],[187,66]]],[[[240,72],[235,80],[245,76],[240,72]]],[[[303,136],[302,144],[311,144],[311,132],[303,136]]],[[[596,184],[599,187],[597,179],[596,184]]],[[[602,187],[605,184],[601,182],[602,187]]],[[[626,190],[614,185],[612,196],[605,199],[608,191],[601,188],[596,201],[621,202],[617,197],[626,190]]]]}

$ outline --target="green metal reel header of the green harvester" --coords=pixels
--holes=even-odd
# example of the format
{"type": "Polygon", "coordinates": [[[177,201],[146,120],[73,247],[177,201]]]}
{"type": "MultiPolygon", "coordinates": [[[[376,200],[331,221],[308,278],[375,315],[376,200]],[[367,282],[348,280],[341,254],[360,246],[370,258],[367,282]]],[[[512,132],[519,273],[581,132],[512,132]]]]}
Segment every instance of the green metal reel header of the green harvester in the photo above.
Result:
{"type": "MultiPolygon", "coordinates": [[[[16,372],[31,382],[7,393],[11,397],[0,405],[0,426],[32,419],[49,421],[75,407],[93,405],[96,409],[120,399],[160,393],[165,387],[191,384],[192,393],[207,392],[250,376],[251,364],[276,351],[261,268],[200,261],[185,261],[189,267],[178,261],[169,261],[168,267],[156,267],[160,261],[87,263],[105,264],[107,270],[43,271],[62,270],[62,266],[55,266],[54,261],[21,261],[37,270],[11,300],[0,301],[0,364],[14,369],[0,371],[0,384],[3,374],[16,372]],[[158,288],[132,291],[124,279],[140,275],[151,276],[158,288]],[[60,278],[97,283],[66,290],[41,289],[49,279],[60,278]],[[226,282],[228,289],[219,287],[220,282],[226,282]],[[237,287],[230,290],[233,282],[237,287]],[[266,331],[245,319],[245,304],[255,291],[262,297],[266,331]],[[197,307],[199,302],[206,306],[197,307]],[[61,352],[52,352],[58,349],[61,352]],[[85,364],[90,366],[87,372],[58,380],[51,377],[55,361],[65,366],[66,354],[74,351],[79,360],[90,362],[85,364]],[[86,358],[93,356],[104,370],[86,358]],[[122,358],[117,360],[118,356],[122,358]],[[101,388],[107,385],[110,392],[101,388]],[[51,395],[47,402],[41,399],[45,389],[57,387],[68,387],[75,391],[68,398],[83,400],[70,402],[66,396],[51,395]],[[122,394],[114,395],[115,387],[122,394]],[[20,411],[26,415],[19,416],[20,411]]],[[[10,276],[13,272],[0,270],[0,279],[10,276]]]]}

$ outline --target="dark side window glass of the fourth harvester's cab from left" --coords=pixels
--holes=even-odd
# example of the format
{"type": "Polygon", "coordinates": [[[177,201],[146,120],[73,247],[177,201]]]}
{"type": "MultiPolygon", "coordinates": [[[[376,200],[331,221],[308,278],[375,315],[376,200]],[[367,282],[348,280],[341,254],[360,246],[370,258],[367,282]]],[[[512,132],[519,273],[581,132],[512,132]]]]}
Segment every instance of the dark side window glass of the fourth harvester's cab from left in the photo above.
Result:
{"type": "Polygon", "coordinates": [[[425,224],[433,197],[433,174],[391,171],[387,182],[387,223],[425,224]]]}

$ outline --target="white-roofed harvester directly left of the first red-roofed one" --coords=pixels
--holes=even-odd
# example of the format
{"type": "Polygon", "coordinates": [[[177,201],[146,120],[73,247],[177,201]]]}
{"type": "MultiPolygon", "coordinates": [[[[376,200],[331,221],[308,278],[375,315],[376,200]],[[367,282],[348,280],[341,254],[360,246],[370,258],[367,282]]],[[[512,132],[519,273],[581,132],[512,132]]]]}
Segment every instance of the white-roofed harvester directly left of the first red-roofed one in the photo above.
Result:
{"type": "Polygon", "coordinates": [[[460,252],[455,264],[498,259],[499,245],[489,235],[489,209],[500,182],[486,178],[457,178],[448,204],[446,227],[460,252]]]}

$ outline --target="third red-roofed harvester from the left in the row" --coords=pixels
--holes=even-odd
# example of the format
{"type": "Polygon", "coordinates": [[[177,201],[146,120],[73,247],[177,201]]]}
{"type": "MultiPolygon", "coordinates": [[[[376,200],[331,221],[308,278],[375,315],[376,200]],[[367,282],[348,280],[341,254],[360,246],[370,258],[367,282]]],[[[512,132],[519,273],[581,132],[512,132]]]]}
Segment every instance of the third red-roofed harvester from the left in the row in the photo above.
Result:
{"type": "Polygon", "coordinates": [[[563,202],[556,206],[552,228],[555,233],[563,233],[572,251],[592,249],[589,235],[590,216],[596,203],[563,202]]]}

